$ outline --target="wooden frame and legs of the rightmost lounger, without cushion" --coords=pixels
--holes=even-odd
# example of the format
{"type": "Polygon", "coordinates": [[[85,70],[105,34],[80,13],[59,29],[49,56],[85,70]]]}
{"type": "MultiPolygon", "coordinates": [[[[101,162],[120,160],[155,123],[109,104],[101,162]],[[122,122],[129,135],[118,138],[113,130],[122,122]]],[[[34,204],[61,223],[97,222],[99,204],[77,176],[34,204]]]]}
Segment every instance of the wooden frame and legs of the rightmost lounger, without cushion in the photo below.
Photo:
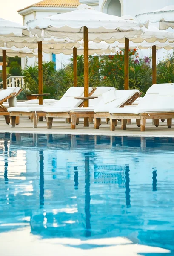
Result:
{"type": "Polygon", "coordinates": [[[167,126],[171,128],[174,112],[140,113],[140,114],[110,114],[110,130],[115,131],[117,119],[121,119],[121,129],[126,130],[127,119],[136,119],[140,131],[145,131],[146,119],[153,119],[154,125],[159,126],[159,119],[167,119],[167,126]]]}

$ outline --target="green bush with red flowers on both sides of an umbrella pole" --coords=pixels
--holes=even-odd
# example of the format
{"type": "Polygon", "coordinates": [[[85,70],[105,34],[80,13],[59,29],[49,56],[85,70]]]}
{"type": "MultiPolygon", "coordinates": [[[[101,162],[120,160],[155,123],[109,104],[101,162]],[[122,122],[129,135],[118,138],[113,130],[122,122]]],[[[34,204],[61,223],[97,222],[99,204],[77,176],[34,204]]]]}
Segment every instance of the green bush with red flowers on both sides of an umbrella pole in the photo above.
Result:
{"type": "MultiPolygon", "coordinates": [[[[139,89],[143,94],[151,86],[151,58],[140,58],[137,49],[129,49],[129,88],[139,89]]],[[[106,77],[117,89],[124,89],[124,49],[100,61],[101,78],[106,77]]]]}

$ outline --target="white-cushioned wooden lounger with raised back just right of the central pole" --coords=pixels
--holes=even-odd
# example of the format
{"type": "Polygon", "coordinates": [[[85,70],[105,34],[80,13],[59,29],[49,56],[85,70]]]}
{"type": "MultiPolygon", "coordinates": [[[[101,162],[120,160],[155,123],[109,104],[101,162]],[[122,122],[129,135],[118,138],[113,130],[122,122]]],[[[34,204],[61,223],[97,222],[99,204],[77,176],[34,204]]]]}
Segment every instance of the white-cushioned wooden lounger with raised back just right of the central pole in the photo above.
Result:
{"type": "MultiPolygon", "coordinates": [[[[94,108],[99,104],[102,99],[103,93],[108,91],[114,91],[114,87],[96,87],[94,93],[92,93],[92,97],[96,97],[94,99],[89,100],[88,108],[78,108],[77,106],[74,108],[62,108],[54,105],[54,107],[44,107],[43,111],[46,111],[46,120],[47,120],[47,128],[52,128],[52,122],[54,117],[65,117],[71,119],[71,129],[75,129],[75,126],[79,123],[79,118],[94,118],[94,108]]],[[[88,126],[84,122],[84,126],[88,126]]]]}

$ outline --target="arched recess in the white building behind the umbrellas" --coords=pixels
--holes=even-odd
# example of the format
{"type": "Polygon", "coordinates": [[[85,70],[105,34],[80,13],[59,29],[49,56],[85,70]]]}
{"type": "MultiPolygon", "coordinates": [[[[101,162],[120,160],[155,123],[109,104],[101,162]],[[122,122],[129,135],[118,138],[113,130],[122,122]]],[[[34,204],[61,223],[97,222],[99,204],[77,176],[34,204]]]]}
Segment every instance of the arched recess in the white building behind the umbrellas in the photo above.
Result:
{"type": "Polygon", "coordinates": [[[115,15],[121,17],[122,15],[122,4],[120,3],[120,0],[106,0],[103,3],[103,12],[110,14],[110,15],[115,15]]]}

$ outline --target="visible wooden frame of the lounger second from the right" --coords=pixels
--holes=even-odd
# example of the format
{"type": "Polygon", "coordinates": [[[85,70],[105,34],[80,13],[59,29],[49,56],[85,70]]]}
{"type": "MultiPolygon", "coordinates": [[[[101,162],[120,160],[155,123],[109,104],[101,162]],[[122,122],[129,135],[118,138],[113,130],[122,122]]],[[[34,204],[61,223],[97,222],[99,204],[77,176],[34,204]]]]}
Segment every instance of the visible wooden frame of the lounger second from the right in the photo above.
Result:
{"type": "MultiPolygon", "coordinates": [[[[124,106],[130,106],[137,98],[140,97],[140,93],[136,92],[131,98],[129,98],[125,103],[123,103],[120,108],[124,106]]],[[[107,122],[110,119],[109,112],[96,112],[94,114],[94,128],[99,129],[101,118],[106,118],[107,122]]],[[[120,119],[120,118],[119,118],[120,119]]]]}

